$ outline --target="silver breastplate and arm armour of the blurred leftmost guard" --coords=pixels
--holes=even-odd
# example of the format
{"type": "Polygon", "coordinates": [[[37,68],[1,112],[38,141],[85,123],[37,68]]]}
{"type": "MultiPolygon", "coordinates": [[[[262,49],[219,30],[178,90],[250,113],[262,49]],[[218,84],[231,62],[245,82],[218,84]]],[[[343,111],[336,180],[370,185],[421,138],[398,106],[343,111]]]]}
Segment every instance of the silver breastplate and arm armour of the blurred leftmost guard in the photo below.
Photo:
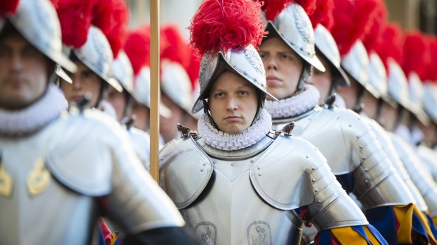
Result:
{"type": "Polygon", "coordinates": [[[182,226],[131,148],[99,111],[65,113],[29,137],[0,137],[0,175],[11,190],[0,193],[1,244],[90,244],[101,206],[127,234],[182,226]]]}

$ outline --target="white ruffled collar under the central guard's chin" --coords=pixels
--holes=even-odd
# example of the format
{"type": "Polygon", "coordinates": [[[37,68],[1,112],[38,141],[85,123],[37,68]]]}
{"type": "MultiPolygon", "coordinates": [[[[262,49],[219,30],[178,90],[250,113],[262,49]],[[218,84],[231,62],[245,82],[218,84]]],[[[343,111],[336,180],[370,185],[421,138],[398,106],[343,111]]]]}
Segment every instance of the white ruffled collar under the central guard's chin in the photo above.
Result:
{"type": "Polygon", "coordinates": [[[235,151],[256,144],[266,136],[271,129],[271,115],[266,110],[261,111],[256,122],[241,134],[228,134],[214,128],[206,114],[197,122],[199,136],[209,146],[223,151],[235,151]]]}

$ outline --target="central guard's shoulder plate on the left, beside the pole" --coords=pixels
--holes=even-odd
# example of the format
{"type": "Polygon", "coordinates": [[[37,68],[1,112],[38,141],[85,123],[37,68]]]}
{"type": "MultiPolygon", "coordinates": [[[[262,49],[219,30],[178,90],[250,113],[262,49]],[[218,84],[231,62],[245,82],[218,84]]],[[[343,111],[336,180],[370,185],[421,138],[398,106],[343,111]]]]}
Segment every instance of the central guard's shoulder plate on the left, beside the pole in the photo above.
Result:
{"type": "Polygon", "coordinates": [[[179,209],[202,193],[212,175],[212,163],[192,136],[174,139],[159,153],[160,185],[179,209]]]}

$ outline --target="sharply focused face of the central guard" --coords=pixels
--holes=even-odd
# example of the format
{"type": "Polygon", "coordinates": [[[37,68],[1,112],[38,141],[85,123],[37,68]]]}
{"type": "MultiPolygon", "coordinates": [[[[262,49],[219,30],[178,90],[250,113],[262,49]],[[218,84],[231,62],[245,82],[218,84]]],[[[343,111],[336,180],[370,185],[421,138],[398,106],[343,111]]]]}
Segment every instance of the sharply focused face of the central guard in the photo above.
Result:
{"type": "Polygon", "coordinates": [[[258,110],[255,87],[242,77],[226,72],[209,91],[211,118],[221,132],[240,134],[252,124],[258,110]]]}

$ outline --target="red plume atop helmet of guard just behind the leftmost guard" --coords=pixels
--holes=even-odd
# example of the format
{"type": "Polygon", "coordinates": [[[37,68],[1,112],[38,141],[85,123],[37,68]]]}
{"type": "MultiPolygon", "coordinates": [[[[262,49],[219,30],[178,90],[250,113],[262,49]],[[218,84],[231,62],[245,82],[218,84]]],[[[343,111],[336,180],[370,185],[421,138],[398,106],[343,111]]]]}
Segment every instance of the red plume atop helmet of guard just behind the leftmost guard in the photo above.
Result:
{"type": "Polygon", "coordinates": [[[126,31],[129,22],[128,5],[124,0],[112,0],[112,28],[109,32],[105,32],[106,38],[111,44],[113,57],[118,56],[118,51],[123,48],[123,44],[126,41],[126,31]]]}

